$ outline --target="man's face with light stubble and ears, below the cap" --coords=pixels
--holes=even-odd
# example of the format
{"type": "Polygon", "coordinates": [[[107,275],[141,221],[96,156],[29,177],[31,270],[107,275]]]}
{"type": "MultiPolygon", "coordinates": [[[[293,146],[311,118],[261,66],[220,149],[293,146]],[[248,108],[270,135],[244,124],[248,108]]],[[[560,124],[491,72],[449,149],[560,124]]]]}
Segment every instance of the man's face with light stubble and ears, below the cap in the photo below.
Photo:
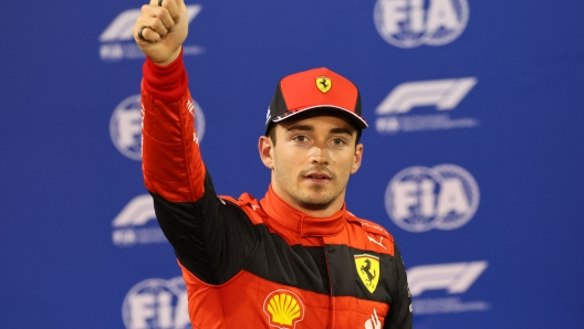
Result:
{"type": "Polygon", "coordinates": [[[316,116],[291,118],[274,129],[275,146],[262,137],[260,153],[272,169],[277,194],[303,211],[340,210],[348,177],[361,166],[363,145],[355,147],[355,128],[338,117],[316,116]]]}

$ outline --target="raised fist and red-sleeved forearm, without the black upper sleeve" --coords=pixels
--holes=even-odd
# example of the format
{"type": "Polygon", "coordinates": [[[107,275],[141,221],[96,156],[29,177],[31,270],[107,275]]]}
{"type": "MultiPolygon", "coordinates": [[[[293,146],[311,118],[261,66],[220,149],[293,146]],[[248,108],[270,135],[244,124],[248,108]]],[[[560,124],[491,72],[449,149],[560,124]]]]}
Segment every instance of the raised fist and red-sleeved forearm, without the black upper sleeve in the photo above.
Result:
{"type": "Polygon", "coordinates": [[[182,0],[152,0],[142,7],[134,25],[134,38],[146,54],[142,82],[144,180],[148,191],[170,202],[200,199],[206,174],[181,56],[187,34],[182,0]]]}

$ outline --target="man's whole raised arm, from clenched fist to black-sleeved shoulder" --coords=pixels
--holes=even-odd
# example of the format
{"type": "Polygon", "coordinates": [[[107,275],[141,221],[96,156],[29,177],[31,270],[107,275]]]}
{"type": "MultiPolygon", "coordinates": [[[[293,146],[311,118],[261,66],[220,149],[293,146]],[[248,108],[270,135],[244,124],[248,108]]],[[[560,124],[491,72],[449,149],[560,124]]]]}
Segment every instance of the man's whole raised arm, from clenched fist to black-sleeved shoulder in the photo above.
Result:
{"type": "Polygon", "coordinates": [[[182,0],[153,0],[134,26],[147,56],[142,82],[144,181],[184,268],[206,283],[221,284],[243,265],[255,236],[244,212],[217,198],[200,156],[181,55],[187,29],[182,0]]]}

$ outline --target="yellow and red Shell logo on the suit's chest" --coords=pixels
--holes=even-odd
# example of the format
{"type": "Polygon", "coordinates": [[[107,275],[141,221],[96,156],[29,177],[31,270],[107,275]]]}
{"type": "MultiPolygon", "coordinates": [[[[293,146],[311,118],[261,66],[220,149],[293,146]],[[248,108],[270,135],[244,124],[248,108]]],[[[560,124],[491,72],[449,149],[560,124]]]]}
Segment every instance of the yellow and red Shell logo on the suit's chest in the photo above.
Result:
{"type": "Polygon", "coordinates": [[[290,290],[275,290],[265,297],[263,311],[270,327],[294,329],[304,319],[304,304],[290,290]]]}

